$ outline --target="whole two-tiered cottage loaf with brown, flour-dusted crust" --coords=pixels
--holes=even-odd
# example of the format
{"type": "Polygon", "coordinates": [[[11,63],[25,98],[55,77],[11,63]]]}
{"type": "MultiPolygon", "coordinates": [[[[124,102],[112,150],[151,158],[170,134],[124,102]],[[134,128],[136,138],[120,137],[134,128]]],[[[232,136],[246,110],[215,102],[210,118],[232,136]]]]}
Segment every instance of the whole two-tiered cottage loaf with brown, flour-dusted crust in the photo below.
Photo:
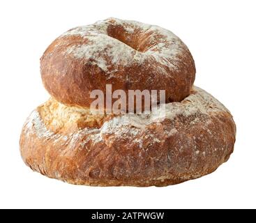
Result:
{"type": "MultiPolygon", "coordinates": [[[[112,29],[119,40],[127,38],[126,41],[130,41],[118,43],[122,54],[133,52],[125,43],[145,49],[150,37],[140,38],[141,26],[146,27],[145,33],[151,33],[148,29],[156,30],[156,26],[109,19],[71,29],[69,34],[63,34],[48,47],[41,59],[41,72],[52,98],[31,113],[20,137],[22,159],[31,169],[78,185],[165,186],[210,174],[228,160],[236,134],[232,115],[212,95],[192,86],[195,78],[193,58],[176,36],[157,27],[170,34],[174,45],[181,48],[177,47],[176,56],[172,54],[172,45],[168,45],[170,52],[167,48],[156,50],[155,59],[162,56],[161,50],[166,51],[165,56],[169,59],[162,73],[162,69],[158,70],[161,67],[158,59],[150,63],[155,79],[147,75],[149,70],[133,70],[135,62],[132,60],[130,74],[124,72],[123,57],[107,64],[105,70],[101,69],[102,55],[98,50],[105,42],[90,43],[95,52],[90,59],[86,57],[87,37],[107,38],[98,32],[112,33],[112,29]],[[79,47],[80,44],[83,47],[79,47]],[[70,46],[72,51],[68,50],[70,46]],[[68,50],[74,54],[73,50],[77,49],[84,55],[82,59],[63,53],[68,50]],[[95,60],[91,61],[93,56],[95,60]],[[179,68],[174,69],[171,64],[179,68]],[[91,68],[87,70],[87,66],[91,68]],[[111,68],[120,73],[114,74],[111,68]],[[129,75],[128,82],[126,75],[129,75]],[[118,83],[114,86],[124,91],[130,87],[165,89],[170,102],[158,105],[158,113],[91,114],[89,92],[93,88],[103,89],[104,84],[112,82],[118,83]]],[[[166,38],[169,40],[170,36],[166,38]]],[[[149,61],[144,63],[142,67],[149,66],[149,61]]]]}

